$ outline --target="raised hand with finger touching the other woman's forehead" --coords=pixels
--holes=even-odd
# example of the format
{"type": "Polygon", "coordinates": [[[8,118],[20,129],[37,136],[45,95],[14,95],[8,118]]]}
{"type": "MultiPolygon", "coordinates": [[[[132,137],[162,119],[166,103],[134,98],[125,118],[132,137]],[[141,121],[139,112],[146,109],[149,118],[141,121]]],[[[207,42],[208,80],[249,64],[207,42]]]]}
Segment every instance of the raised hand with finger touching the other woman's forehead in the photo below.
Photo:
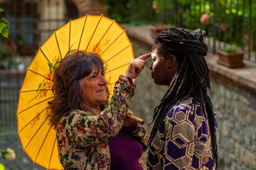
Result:
{"type": "Polygon", "coordinates": [[[131,79],[135,79],[146,64],[146,59],[151,56],[151,52],[148,54],[144,54],[136,59],[132,59],[127,70],[125,76],[130,77],[131,79]]]}

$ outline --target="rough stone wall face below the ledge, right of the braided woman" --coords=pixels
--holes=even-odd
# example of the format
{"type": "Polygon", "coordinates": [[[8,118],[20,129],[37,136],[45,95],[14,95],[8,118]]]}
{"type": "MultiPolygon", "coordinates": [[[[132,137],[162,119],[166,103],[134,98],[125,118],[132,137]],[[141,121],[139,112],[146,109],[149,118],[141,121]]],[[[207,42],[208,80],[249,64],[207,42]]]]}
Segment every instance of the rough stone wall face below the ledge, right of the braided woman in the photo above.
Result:
{"type": "Polygon", "coordinates": [[[211,81],[219,125],[219,170],[256,170],[256,99],[211,81]]]}

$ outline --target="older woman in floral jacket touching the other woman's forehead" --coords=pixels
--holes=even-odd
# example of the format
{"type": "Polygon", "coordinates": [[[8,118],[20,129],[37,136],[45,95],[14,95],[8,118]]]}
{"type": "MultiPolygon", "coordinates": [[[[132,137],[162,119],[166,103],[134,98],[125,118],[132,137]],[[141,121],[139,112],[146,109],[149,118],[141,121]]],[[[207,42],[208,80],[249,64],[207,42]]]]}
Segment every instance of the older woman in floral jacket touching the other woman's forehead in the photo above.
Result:
{"type": "MultiPolygon", "coordinates": [[[[137,139],[137,145],[146,146],[147,131],[126,119],[126,115],[128,102],[134,94],[132,79],[138,76],[149,56],[146,54],[131,61],[126,74],[117,80],[109,102],[100,56],[74,51],[60,62],[53,76],[55,96],[49,102],[49,109],[51,123],[56,129],[59,159],[65,170],[109,170],[108,141],[122,127],[137,139]]],[[[130,152],[137,152],[136,147],[130,149],[130,152]]]]}

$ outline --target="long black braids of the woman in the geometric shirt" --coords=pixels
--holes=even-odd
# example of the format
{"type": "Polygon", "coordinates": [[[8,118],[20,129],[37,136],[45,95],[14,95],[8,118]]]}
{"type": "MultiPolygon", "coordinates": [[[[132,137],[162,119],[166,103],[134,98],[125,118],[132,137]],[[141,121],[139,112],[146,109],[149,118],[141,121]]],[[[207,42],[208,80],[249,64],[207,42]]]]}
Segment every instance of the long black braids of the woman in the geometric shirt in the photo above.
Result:
{"type": "MultiPolygon", "coordinates": [[[[208,118],[213,160],[218,166],[218,153],[215,136],[215,122],[213,106],[207,90],[210,90],[209,68],[204,56],[207,55],[208,47],[203,42],[204,31],[200,29],[193,33],[183,28],[171,28],[158,35],[154,40],[154,47],[162,57],[175,55],[179,61],[170,86],[162,98],[160,104],[154,109],[154,125],[149,137],[148,147],[152,142],[160,123],[166,117],[168,111],[178,102],[193,96],[195,102],[202,104],[204,114],[208,118]]],[[[150,124],[152,124],[152,122],[150,124]]]]}

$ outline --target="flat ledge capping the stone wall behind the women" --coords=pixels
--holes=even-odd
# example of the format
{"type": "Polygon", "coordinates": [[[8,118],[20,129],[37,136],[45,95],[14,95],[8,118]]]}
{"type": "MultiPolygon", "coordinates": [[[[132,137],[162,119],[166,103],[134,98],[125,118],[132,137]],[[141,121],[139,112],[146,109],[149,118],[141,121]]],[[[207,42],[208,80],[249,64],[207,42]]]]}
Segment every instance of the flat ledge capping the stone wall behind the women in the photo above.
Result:
{"type": "MultiPolygon", "coordinates": [[[[148,25],[121,24],[121,27],[126,30],[129,37],[142,41],[148,46],[153,45],[148,25]]],[[[211,80],[256,98],[256,63],[244,61],[244,68],[227,68],[217,64],[217,59],[216,54],[208,52],[206,61],[210,69],[211,80]]]]}

